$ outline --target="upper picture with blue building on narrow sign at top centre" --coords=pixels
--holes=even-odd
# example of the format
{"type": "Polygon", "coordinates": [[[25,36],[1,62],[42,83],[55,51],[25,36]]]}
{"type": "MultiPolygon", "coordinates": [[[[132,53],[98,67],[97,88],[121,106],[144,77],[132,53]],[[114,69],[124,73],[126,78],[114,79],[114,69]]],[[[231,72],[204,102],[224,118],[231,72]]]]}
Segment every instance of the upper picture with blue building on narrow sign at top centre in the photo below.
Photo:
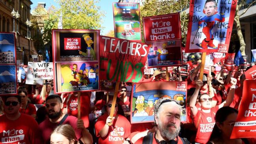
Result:
{"type": "Polygon", "coordinates": [[[136,3],[113,3],[114,20],[139,21],[139,4],[136,3]]]}

